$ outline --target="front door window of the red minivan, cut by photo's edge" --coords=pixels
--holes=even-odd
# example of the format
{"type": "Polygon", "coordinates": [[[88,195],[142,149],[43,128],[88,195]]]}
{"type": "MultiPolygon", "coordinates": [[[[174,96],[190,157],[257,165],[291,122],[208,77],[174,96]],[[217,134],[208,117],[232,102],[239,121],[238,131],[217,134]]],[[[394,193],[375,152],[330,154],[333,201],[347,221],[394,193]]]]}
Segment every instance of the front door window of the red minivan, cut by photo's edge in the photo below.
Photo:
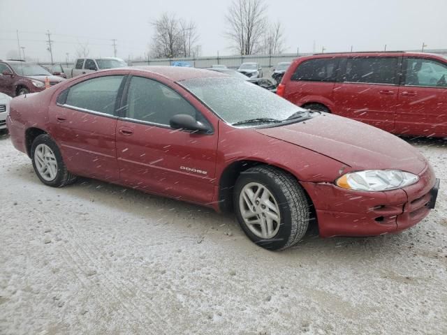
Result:
{"type": "Polygon", "coordinates": [[[407,58],[405,85],[447,87],[447,65],[432,59],[407,58]]]}

